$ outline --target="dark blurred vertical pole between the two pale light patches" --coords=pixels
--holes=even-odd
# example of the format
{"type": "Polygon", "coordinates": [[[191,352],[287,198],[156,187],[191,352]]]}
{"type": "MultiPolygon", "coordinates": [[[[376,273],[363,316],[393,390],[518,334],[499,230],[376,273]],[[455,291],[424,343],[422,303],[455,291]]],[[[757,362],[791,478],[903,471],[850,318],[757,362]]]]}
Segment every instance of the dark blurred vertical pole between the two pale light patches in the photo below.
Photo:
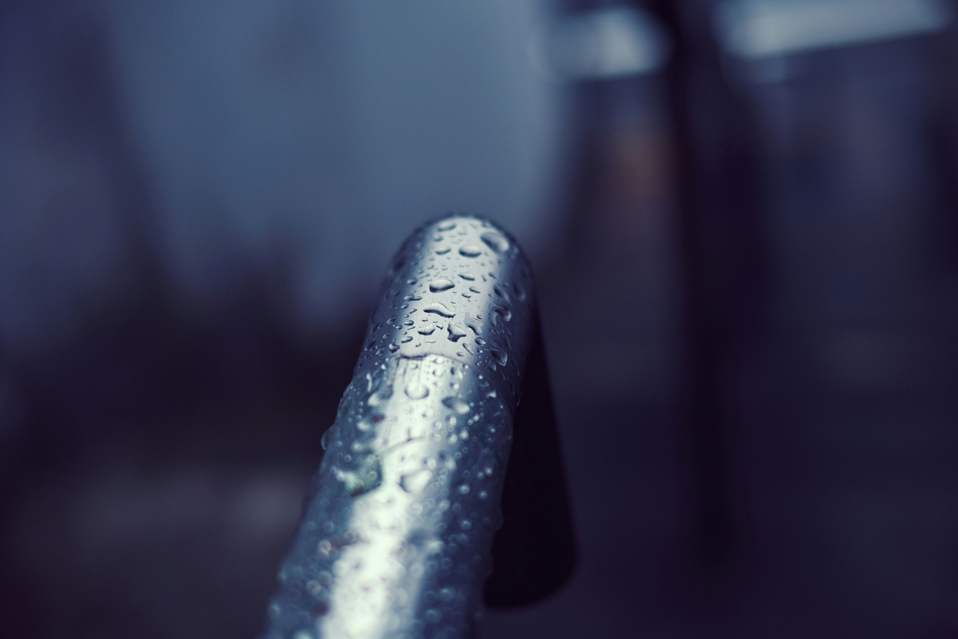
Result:
{"type": "Polygon", "coordinates": [[[717,566],[735,546],[723,397],[743,339],[761,327],[764,260],[749,109],[723,80],[711,10],[701,1],[650,6],[673,38],[665,74],[685,290],[682,412],[696,468],[699,551],[717,566]]]}

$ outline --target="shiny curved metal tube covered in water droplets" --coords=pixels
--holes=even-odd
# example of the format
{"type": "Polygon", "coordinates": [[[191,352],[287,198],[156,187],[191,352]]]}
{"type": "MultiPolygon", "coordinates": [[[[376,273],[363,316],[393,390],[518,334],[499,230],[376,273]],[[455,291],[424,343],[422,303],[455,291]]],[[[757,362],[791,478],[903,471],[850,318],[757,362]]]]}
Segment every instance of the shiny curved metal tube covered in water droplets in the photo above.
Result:
{"type": "Polygon", "coordinates": [[[534,314],[526,257],[485,219],[446,217],[399,249],[265,639],[469,635],[534,314]]]}

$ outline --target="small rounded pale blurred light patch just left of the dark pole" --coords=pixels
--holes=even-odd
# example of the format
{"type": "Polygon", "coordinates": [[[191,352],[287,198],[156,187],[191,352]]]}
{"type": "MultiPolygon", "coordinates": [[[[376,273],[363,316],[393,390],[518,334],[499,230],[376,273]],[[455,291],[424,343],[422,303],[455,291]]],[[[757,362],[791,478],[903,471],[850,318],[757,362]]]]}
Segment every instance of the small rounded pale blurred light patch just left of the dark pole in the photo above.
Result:
{"type": "Polygon", "coordinates": [[[537,40],[535,51],[541,67],[573,80],[652,73],[669,53],[669,40],[658,23],[648,13],[626,7],[565,18],[537,40]]]}

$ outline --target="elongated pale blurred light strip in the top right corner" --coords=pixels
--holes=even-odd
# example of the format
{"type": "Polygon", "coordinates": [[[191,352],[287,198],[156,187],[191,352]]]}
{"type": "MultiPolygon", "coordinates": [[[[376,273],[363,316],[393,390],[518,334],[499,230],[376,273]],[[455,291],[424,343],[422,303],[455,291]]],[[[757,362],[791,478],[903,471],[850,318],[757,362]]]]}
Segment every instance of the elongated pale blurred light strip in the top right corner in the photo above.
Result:
{"type": "Polygon", "coordinates": [[[751,58],[925,34],[950,21],[939,0],[726,0],[716,11],[723,48],[751,58]]]}

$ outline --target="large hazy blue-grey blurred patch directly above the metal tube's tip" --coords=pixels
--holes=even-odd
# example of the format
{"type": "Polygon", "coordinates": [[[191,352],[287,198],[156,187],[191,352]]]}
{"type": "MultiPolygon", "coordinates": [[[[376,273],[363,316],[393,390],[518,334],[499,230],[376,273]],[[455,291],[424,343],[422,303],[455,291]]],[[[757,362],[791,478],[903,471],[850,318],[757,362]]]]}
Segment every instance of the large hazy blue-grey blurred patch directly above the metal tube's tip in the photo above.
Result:
{"type": "Polygon", "coordinates": [[[171,284],[209,308],[282,271],[288,330],[319,339],[432,217],[495,217],[549,250],[567,99],[528,47],[556,4],[109,0],[171,284]]]}

